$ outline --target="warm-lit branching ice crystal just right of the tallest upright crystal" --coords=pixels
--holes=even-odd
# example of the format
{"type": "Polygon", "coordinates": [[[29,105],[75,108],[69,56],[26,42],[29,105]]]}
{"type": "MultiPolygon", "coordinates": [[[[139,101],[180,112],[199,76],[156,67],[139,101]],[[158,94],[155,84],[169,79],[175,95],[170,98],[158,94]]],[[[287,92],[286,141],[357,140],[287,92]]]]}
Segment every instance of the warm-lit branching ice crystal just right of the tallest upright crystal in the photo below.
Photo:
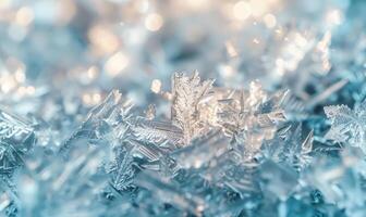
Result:
{"type": "Polygon", "coordinates": [[[218,125],[233,139],[235,149],[253,155],[260,150],[264,140],[273,137],[277,125],[285,120],[281,108],[288,92],[267,94],[257,82],[252,82],[249,91],[231,93],[219,100],[218,125]]]}

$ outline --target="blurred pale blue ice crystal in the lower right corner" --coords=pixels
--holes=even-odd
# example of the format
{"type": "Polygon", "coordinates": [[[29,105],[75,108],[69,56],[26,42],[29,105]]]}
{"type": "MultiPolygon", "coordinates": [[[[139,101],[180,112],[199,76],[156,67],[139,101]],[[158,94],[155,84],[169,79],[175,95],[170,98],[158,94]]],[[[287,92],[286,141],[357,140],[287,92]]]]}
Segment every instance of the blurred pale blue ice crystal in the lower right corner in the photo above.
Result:
{"type": "Polygon", "coordinates": [[[326,203],[345,209],[346,216],[365,214],[363,173],[365,162],[358,148],[342,152],[340,158],[320,157],[305,174],[308,183],[319,189],[326,203]]]}

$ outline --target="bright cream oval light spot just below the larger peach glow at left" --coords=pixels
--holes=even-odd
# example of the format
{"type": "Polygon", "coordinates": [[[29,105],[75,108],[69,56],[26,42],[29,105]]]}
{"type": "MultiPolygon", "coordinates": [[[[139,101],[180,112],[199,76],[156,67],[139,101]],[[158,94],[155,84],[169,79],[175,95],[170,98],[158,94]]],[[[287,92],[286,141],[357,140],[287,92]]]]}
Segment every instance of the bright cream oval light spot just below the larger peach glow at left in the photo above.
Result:
{"type": "Polygon", "coordinates": [[[114,77],[127,67],[129,63],[129,56],[126,56],[123,52],[118,52],[106,62],[105,71],[108,75],[114,77]]]}

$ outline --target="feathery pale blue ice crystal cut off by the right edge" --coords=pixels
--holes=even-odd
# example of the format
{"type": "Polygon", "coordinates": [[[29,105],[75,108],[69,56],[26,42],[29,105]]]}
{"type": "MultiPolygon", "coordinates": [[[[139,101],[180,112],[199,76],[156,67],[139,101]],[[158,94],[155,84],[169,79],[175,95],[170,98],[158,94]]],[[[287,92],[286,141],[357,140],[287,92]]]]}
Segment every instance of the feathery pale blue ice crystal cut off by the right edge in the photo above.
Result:
{"type": "Polygon", "coordinates": [[[325,113],[331,123],[327,139],[347,142],[359,146],[366,153],[366,101],[356,105],[354,110],[346,105],[326,106],[325,113]]]}

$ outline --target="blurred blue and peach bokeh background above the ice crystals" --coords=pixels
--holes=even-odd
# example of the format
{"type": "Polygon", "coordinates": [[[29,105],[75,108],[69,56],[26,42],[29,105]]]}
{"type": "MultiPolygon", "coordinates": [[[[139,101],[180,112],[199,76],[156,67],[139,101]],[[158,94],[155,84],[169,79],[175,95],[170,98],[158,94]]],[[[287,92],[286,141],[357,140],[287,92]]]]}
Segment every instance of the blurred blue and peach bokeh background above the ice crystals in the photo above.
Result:
{"type": "Polygon", "coordinates": [[[155,99],[154,79],[155,89],[168,90],[174,72],[194,69],[216,86],[258,79],[308,101],[333,84],[363,79],[365,7],[362,0],[1,0],[1,104],[47,119],[94,106],[117,88],[145,106],[155,99]]]}

